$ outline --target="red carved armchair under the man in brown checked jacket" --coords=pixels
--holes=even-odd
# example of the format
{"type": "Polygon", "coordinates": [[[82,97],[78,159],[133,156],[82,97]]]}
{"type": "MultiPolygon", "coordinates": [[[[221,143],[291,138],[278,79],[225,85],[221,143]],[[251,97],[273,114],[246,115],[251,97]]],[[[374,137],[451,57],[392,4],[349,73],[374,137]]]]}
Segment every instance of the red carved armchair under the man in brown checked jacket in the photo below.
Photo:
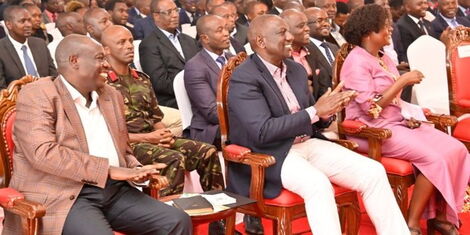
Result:
{"type": "MultiPolygon", "coordinates": [[[[22,228],[21,234],[35,235],[38,234],[38,221],[46,214],[46,208],[36,202],[28,201],[24,195],[13,188],[8,188],[13,173],[13,150],[15,144],[13,142],[13,124],[15,122],[16,99],[20,89],[31,82],[38,80],[36,77],[25,76],[19,80],[13,81],[7,89],[0,93],[0,206],[21,217],[22,228]]],[[[163,184],[154,185],[152,195],[157,196],[160,188],[166,187],[163,184]]],[[[124,235],[115,232],[115,235],[124,235]]]]}

